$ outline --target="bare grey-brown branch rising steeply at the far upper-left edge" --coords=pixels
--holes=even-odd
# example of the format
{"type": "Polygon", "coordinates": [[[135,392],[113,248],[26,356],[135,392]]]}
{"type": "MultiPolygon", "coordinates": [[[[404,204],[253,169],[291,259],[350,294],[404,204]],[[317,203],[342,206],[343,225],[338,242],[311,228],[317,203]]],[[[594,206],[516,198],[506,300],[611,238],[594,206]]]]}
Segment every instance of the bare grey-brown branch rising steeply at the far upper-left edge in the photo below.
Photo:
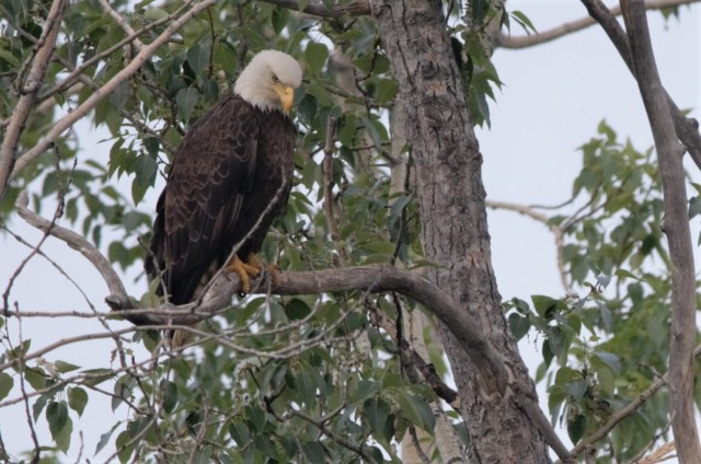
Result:
{"type": "Polygon", "coordinates": [[[36,55],[32,62],[32,69],[24,85],[20,84],[22,96],[12,112],[10,124],[4,134],[4,140],[0,147],[0,199],[4,197],[4,193],[7,192],[10,173],[12,173],[15,164],[18,142],[24,129],[24,124],[34,106],[36,95],[42,88],[42,81],[44,81],[48,60],[56,46],[56,37],[58,36],[59,26],[67,4],[68,0],[55,0],[51,4],[51,9],[46,18],[44,31],[36,45],[36,55]]]}

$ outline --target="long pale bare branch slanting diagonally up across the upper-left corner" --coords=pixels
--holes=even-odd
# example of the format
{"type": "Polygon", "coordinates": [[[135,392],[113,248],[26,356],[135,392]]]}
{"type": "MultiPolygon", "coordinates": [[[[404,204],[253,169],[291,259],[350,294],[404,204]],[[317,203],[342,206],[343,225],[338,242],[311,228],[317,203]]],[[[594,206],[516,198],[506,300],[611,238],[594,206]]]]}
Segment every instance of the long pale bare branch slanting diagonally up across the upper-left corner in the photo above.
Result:
{"type": "MultiPolygon", "coordinates": [[[[14,165],[14,170],[12,171],[12,177],[16,176],[20,171],[26,167],[32,161],[38,158],[50,144],[58,138],[64,131],[66,131],[69,127],[71,127],[78,119],[82,118],[90,112],[92,108],[100,103],[104,97],[110,95],[122,82],[129,79],[134,76],[146,62],[146,60],[156,53],[156,50],[163,44],[165,44],[169,38],[175,34],[182,26],[185,25],[189,20],[199,14],[202,11],[211,7],[216,0],[204,0],[202,2],[196,3],[189,9],[187,12],[183,13],[182,16],[174,20],[159,35],[152,43],[148,46],[145,46],[141,51],[134,57],[134,60],[117,72],[107,83],[105,83],[102,88],[96,90],[88,100],[83,102],[78,108],[73,112],[69,113],[61,119],[59,119],[51,130],[34,146],[31,150],[27,150],[20,159],[16,160],[14,165]]],[[[0,178],[0,181],[2,181],[0,178]]],[[[2,184],[0,184],[2,185],[2,184]]]]}

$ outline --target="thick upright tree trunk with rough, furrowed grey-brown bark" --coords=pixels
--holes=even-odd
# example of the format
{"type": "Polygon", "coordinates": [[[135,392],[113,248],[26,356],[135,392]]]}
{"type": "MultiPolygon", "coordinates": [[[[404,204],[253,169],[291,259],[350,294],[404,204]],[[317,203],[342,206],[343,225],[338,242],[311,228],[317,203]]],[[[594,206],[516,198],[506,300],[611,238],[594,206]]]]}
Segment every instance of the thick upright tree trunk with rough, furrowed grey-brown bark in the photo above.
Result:
{"type": "MultiPolygon", "coordinates": [[[[482,324],[520,385],[532,382],[503,315],[491,263],[482,155],[468,111],[460,70],[438,0],[372,0],[375,16],[400,95],[416,169],[427,275],[482,324]]],[[[479,382],[476,370],[448,328],[446,352],[462,398],[475,463],[545,463],[548,446],[516,406],[479,382]]]]}

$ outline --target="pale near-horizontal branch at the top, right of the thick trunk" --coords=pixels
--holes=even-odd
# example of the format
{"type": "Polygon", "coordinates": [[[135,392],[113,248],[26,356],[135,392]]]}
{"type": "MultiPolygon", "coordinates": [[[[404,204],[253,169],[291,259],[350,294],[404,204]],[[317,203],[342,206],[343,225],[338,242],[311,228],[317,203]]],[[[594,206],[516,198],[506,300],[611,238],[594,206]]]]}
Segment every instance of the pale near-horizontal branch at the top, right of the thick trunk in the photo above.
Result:
{"type": "MultiPolygon", "coordinates": [[[[647,10],[662,10],[664,8],[674,8],[683,4],[697,3],[701,0],[652,0],[645,2],[645,8],[647,10]]],[[[621,14],[620,7],[611,7],[611,14],[618,16],[621,14]]],[[[528,48],[536,45],[545,44],[548,42],[552,42],[556,38],[565,36],[567,34],[572,34],[574,32],[578,32],[585,30],[589,26],[595,25],[597,22],[591,16],[582,18],[575,21],[571,21],[568,23],[564,23],[558,27],[553,27],[548,31],[539,32],[532,35],[508,35],[508,34],[498,34],[494,40],[494,48],[502,47],[508,49],[519,49],[519,48],[528,48]]]]}

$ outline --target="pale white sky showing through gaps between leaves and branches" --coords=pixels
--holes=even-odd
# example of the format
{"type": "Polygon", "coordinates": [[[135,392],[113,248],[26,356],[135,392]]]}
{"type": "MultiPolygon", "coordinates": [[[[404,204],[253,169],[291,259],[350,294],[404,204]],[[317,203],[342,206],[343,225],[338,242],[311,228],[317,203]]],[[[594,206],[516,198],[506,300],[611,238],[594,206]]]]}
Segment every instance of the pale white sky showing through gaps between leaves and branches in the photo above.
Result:
{"type": "MultiPolygon", "coordinates": [[[[586,15],[584,7],[571,0],[509,0],[507,7],[509,11],[525,12],[539,31],[586,15]]],[[[692,108],[692,116],[697,118],[701,116],[699,11],[698,7],[683,8],[680,20],[668,22],[658,12],[648,14],[663,83],[677,104],[692,108]]],[[[512,32],[522,34],[515,22],[512,32]]],[[[630,138],[639,150],[653,144],[637,85],[599,27],[528,49],[498,49],[494,63],[505,85],[497,92],[497,103],[491,105],[492,128],[478,130],[489,199],[525,205],[556,205],[566,200],[581,169],[577,147],[596,135],[601,119],[606,118],[620,139],[630,138]]],[[[81,124],[76,130],[85,147],[100,138],[91,134],[89,124],[81,124]]],[[[108,150],[110,143],[102,143],[88,148],[84,153],[107,160],[108,150]]],[[[701,182],[696,166],[689,164],[689,172],[694,182],[701,182]]],[[[152,212],[157,195],[158,192],[150,193],[139,208],[152,212]]],[[[48,209],[44,213],[48,213],[48,209]]],[[[553,239],[547,228],[508,211],[490,210],[489,220],[493,264],[502,297],[529,300],[531,294],[562,295],[553,239]]],[[[696,221],[694,240],[699,227],[699,220],[696,221]]],[[[11,229],[32,243],[41,237],[19,218],[13,219],[11,229]]],[[[105,244],[107,239],[103,239],[105,244]]],[[[47,241],[43,251],[69,271],[99,310],[106,309],[103,303],[106,286],[81,255],[54,239],[47,241]]],[[[698,248],[696,251],[698,253],[698,248]]],[[[13,239],[0,236],[0,293],[26,254],[27,248],[13,239]]],[[[125,278],[127,290],[135,295],[146,288],[143,281],[134,282],[138,271],[134,268],[125,278]]],[[[11,301],[18,301],[23,311],[89,310],[80,293],[41,257],[33,258],[18,279],[11,301]]],[[[103,328],[93,320],[23,320],[22,324],[22,335],[32,338],[33,350],[60,338],[97,332],[103,328]]],[[[16,340],[16,328],[13,336],[16,340]]],[[[532,339],[520,344],[521,356],[531,373],[541,359],[539,346],[540,343],[535,344],[532,339]]],[[[114,343],[82,341],[53,351],[47,359],[70,361],[87,369],[108,368],[113,366],[113,349],[114,343]]],[[[543,390],[543,385],[539,385],[541,404],[547,411],[543,390]]],[[[14,392],[10,397],[13,396],[14,392]]],[[[108,399],[91,393],[83,417],[78,419],[71,411],[71,418],[74,433],[66,462],[73,462],[79,454],[79,430],[84,436],[82,459],[93,460],[100,434],[115,421],[126,420],[127,410],[123,407],[113,414],[108,399]]],[[[39,419],[36,430],[41,442],[50,440],[44,418],[39,419]]],[[[8,451],[14,455],[20,456],[32,448],[22,404],[1,410],[0,433],[8,451]]],[[[566,441],[566,433],[562,436],[566,441]]],[[[116,432],[113,439],[115,437],[116,432]]],[[[103,451],[94,461],[102,462],[107,454],[103,451]]]]}

